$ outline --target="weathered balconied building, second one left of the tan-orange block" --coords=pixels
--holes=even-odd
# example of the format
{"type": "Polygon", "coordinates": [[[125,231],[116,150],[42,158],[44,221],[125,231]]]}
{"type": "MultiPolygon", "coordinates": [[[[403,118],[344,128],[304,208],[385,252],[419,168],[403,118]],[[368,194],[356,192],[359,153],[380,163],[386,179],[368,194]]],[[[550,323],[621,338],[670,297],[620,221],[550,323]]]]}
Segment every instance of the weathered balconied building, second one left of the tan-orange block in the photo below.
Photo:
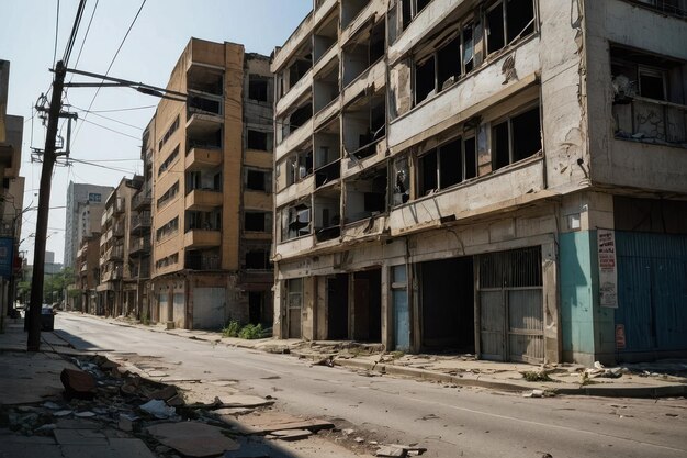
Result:
{"type": "MultiPolygon", "coordinates": [[[[128,262],[131,247],[132,198],[143,183],[143,177],[122,178],[120,185],[105,200],[100,236],[99,313],[120,316],[135,313],[129,302],[131,283],[135,283],[128,262]]],[[[134,297],[135,299],[135,297],[134,297]]]]}

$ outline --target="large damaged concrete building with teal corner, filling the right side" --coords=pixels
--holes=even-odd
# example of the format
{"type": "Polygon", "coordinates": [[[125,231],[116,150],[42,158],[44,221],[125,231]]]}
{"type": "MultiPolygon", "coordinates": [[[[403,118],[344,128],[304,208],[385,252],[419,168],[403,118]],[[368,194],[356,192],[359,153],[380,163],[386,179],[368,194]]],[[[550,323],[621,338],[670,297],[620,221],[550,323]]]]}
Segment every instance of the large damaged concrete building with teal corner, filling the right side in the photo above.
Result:
{"type": "Polygon", "coordinates": [[[315,0],[272,58],[274,333],[684,356],[683,3],[315,0]]]}

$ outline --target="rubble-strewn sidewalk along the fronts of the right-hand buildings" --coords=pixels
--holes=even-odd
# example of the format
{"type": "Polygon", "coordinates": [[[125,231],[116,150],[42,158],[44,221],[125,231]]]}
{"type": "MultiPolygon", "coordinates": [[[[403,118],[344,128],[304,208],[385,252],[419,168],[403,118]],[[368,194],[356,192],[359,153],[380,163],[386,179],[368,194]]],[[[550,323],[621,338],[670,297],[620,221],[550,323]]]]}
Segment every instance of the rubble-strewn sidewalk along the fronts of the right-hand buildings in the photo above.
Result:
{"type": "MultiPolygon", "coordinates": [[[[102,319],[102,317],[101,317],[102,319]]],[[[586,368],[561,364],[545,367],[477,360],[470,355],[406,355],[384,353],[381,345],[348,342],[303,342],[223,337],[219,332],[167,329],[125,319],[102,319],[122,326],[136,326],[207,340],[216,344],[290,354],[313,364],[341,366],[370,375],[408,377],[455,387],[482,387],[522,392],[525,395],[594,395],[611,398],[665,398],[687,395],[687,360],[586,368]],[[528,381],[526,379],[532,381],[528,381]],[[539,391],[537,391],[539,390],[539,391]],[[541,391],[541,392],[540,392],[541,391]]]]}

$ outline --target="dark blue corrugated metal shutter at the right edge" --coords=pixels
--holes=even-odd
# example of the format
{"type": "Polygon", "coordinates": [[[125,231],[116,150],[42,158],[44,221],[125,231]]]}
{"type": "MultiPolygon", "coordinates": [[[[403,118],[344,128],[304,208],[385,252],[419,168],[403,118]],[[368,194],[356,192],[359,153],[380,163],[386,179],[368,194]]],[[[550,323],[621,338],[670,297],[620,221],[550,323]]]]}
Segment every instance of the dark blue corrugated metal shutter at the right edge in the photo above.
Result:
{"type": "Polygon", "coordinates": [[[618,231],[616,244],[620,355],[687,350],[687,236],[618,231]]]}

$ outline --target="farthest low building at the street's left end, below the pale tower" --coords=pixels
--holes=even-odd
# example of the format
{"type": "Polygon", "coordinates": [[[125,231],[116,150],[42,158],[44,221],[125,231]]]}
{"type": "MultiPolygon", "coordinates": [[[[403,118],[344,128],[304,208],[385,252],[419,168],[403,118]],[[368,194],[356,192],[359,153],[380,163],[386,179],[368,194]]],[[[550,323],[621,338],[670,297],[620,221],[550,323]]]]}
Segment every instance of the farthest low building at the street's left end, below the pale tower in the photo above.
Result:
{"type": "Polygon", "coordinates": [[[77,252],[77,268],[75,269],[76,289],[80,298],[75,301],[70,310],[83,313],[98,313],[98,292],[100,284],[100,233],[93,232],[85,237],[77,252]]]}

